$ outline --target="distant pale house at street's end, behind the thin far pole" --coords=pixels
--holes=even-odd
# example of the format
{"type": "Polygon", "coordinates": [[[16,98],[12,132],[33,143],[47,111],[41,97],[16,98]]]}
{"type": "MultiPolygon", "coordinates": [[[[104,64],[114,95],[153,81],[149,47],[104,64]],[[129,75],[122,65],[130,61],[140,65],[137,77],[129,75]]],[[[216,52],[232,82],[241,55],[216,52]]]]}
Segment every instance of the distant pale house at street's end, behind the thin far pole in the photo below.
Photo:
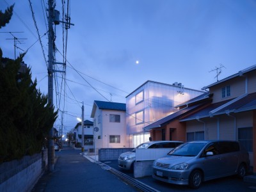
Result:
{"type": "MultiPolygon", "coordinates": [[[[93,122],[90,120],[84,120],[84,150],[93,148],[93,122]]],[[[82,125],[81,122],[76,124],[74,128],[74,141],[76,143],[82,143],[82,125]]]]}

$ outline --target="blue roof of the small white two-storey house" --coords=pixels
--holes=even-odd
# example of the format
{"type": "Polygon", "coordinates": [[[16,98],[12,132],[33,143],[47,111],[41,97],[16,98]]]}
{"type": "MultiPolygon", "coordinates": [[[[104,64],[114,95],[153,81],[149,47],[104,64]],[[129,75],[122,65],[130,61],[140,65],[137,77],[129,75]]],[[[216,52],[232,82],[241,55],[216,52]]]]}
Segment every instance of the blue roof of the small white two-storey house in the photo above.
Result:
{"type": "Polygon", "coordinates": [[[93,108],[91,113],[92,118],[94,118],[96,108],[106,109],[106,110],[115,110],[115,111],[126,111],[126,104],[120,103],[120,102],[107,102],[107,101],[95,100],[93,102],[93,108]]]}

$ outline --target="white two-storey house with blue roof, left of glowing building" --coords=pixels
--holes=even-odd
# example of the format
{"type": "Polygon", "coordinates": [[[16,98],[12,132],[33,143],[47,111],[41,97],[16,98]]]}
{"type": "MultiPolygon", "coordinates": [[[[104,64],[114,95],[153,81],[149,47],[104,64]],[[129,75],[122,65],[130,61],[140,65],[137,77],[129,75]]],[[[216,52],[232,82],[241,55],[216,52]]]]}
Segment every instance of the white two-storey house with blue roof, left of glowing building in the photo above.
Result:
{"type": "Polygon", "coordinates": [[[99,148],[127,147],[125,104],[95,100],[91,118],[96,152],[99,148]]]}

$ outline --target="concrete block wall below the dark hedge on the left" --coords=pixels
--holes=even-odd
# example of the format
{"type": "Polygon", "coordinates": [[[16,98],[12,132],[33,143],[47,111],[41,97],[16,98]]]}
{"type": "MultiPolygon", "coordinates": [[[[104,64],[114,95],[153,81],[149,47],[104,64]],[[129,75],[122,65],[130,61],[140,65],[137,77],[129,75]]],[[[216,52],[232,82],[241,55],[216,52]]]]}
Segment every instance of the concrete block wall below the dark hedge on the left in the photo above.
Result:
{"type": "Polygon", "coordinates": [[[47,150],[0,164],[0,191],[29,191],[47,166],[47,150]],[[46,156],[46,157],[45,157],[46,156]]]}

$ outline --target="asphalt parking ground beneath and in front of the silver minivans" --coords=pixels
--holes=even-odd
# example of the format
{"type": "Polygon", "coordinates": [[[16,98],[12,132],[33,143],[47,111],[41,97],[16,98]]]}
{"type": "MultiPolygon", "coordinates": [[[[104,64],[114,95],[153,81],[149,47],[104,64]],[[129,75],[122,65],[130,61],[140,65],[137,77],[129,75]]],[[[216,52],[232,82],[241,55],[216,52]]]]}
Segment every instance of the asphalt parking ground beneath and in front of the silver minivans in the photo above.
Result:
{"type": "MultiPolygon", "coordinates": [[[[117,160],[116,161],[102,161],[102,163],[108,164],[112,168],[133,177],[133,173],[122,170],[118,167],[117,160]]],[[[256,191],[256,184],[244,182],[243,179],[239,179],[234,176],[224,177],[221,179],[215,179],[211,181],[204,182],[199,189],[190,189],[188,186],[179,186],[174,184],[168,184],[165,182],[161,182],[158,180],[153,179],[151,176],[137,178],[141,182],[147,184],[148,186],[155,188],[159,191],[230,191],[230,192],[241,192],[241,191],[256,191]]]]}

